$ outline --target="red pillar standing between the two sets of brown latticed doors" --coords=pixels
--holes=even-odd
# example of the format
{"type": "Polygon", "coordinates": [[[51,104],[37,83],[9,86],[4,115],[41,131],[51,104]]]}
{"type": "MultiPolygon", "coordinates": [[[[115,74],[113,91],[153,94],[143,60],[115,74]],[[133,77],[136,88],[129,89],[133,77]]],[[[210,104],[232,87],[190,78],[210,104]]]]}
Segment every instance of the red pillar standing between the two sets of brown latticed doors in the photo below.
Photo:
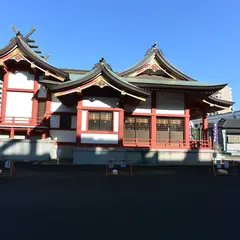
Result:
{"type": "Polygon", "coordinates": [[[151,147],[154,148],[157,145],[157,116],[156,116],[156,92],[152,93],[152,115],[151,115],[151,147]]]}

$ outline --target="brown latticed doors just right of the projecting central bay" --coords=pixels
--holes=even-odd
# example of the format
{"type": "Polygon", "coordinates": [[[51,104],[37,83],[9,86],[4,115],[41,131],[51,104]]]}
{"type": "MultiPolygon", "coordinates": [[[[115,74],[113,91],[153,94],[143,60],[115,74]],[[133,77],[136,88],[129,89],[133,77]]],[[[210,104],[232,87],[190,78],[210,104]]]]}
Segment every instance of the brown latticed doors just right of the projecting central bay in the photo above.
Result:
{"type": "Polygon", "coordinates": [[[125,117],[124,138],[149,139],[150,118],[149,117],[125,117]]]}

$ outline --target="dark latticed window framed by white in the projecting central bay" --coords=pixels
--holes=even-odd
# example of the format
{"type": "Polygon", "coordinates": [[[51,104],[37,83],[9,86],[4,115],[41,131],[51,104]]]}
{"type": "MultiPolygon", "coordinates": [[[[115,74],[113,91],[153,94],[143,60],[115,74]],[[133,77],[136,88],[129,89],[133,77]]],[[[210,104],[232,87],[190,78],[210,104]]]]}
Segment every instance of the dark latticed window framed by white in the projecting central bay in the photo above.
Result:
{"type": "Polygon", "coordinates": [[[88,112],[88,130],[92,131],[112,131],[112,112],[88,112]]]}

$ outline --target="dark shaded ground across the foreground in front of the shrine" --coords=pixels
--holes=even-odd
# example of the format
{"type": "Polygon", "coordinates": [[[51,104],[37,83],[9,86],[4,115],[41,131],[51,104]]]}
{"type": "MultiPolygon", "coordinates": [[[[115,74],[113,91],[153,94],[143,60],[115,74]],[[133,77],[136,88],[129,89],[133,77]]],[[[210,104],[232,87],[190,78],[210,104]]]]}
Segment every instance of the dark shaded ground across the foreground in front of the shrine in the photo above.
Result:
{"type": "Polygon", "coordinates": [[[209,168],[0,179],[0,239],[238,239],[240,178],[209,168]]]}

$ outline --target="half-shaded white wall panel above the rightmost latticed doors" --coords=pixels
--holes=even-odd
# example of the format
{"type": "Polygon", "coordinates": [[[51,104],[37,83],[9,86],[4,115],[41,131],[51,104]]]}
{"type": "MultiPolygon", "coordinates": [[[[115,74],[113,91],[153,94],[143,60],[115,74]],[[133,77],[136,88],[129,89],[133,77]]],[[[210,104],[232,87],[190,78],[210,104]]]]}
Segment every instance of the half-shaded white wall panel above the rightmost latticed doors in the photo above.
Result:
{"type": "Polygon", "coordinates": [[[157,92],[156,113],[184,114],[184,94],[173,92],[157,92]]]}

